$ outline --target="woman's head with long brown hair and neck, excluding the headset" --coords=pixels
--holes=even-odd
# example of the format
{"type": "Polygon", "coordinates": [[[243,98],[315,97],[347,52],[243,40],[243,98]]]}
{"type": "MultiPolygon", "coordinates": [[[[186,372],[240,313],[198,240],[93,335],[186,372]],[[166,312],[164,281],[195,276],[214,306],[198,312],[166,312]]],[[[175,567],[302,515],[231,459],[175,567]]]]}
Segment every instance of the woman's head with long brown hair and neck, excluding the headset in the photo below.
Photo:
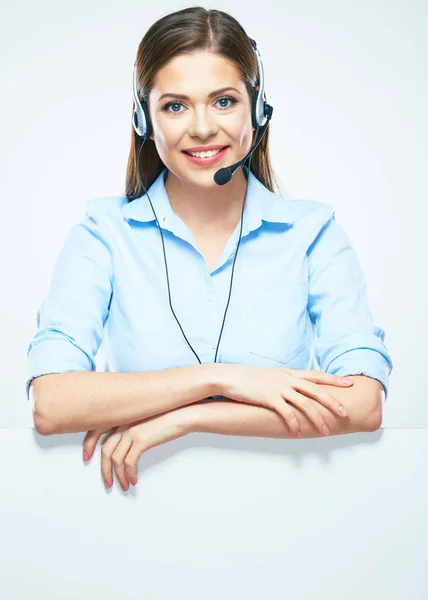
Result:
{"type": "MultiPolygon", "coordinates": [[[[214,184],[213,173],[240,160],[254,141],[251,101],[259,86],[258,65],[242,26],[225,12],[202,7],[162,17],[140,42],[136,75],[152,131],[139,160],[144,189],[136,168],[142,140],[131,133],[126,197],[144,194],[167,165],[171,206],[189,227],[201,219],[205,228],[218,228],[224,219],[238,222],[246,186],[242,170],[223,187],[214,184]],[[194,159],[186,154],[213,148],[225,150],[194,159]]],[[[252,154],[251,170],[267,189],[279,191],[269,127],[252,154]]]]}

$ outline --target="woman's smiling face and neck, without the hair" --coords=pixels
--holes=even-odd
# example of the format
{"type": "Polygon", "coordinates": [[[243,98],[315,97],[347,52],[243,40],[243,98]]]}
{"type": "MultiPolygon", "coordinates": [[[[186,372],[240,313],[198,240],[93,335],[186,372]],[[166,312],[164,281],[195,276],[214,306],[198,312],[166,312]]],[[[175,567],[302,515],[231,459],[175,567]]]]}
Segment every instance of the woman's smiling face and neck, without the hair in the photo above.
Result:
{"type": "Polygon", "coordinates": [[[235,63],[215,47],[179,52],[157,70],[148,108],[150,140],[168,166],[165,187],[175,214],[194,235],[203,224],[209,236],[227,221],[238,222],[246,188],[242,171],[228,186],[213,180],[253,142],[251,97],[235,63]]]}

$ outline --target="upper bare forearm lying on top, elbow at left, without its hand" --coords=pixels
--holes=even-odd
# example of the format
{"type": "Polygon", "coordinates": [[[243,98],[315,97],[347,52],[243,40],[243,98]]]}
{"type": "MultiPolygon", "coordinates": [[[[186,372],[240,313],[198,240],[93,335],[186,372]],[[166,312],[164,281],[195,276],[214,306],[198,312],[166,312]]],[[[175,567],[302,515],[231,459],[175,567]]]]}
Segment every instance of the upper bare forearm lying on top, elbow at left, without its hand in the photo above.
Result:
{"type": "Polygon", "coordinates": [[[34,423],[44,434],[133,423],[217,394],[216,364],[159,371],[73,371],[33,380],[34,423]]]}

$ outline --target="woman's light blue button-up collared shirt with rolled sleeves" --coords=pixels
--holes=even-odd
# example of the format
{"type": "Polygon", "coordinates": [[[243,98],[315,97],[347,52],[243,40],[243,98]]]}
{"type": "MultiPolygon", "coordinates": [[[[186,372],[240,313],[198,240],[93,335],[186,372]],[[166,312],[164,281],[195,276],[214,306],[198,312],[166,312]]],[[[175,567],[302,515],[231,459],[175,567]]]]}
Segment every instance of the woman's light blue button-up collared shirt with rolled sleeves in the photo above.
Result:
{"type": "MultiPolygon", "coordinates": [[[[149,188],[162,227],[171,303],[202,363],[214,362],[240,223],[210,270],[172,210],[165,167],[149,188]]],[[[286,200],[244,167],[241,244],[217,362],[321,369],[378,379],[392,361],[364,277],[330,204],[286,200]],[[249,176],[248,176],[249,175],[249,176]]],[[[68,233],[27,351],[31,380],[67,371],[198,364],[169,306],[162,240],[145,197],[90,198],[68,233]],[[97,354],[98,353],[98,354],[97,354]]]]}

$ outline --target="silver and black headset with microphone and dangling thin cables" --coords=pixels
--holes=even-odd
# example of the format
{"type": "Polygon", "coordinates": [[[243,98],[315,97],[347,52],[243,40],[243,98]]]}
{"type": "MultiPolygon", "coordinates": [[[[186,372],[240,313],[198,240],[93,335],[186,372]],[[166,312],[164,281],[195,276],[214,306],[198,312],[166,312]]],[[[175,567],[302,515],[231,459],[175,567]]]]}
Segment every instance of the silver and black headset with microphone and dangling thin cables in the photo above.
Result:
{"type": "MultiPolygon", "coordinates": [[[[255,42],[255,40],[249,38],[252,48],[256,54],[256,58],[257,58],[257,65],[258,65],[258,85],[259,85],[259,89],[255,90],[253,96],[252,96],[252,103],[251,103],[251,120],[252,120],[252,125],[253,128],[256,129],[256,135],[255,135],[255,142],[252,145],[252,147],[250,148],[250,150],[247,152],[247,154],[244,156],[244,158],[242,158],[240,161],[238,161],[237,163],[230,165],[229,167],[223,167],[221,169],[219,169],[218,171],[216,171],[214,173],[214,181],[217,183],[217,185],[224,185],[225,183],[227,183],[228,181],[231,180],[232,175],[234,174],[234,172],[240,167],[245,165],[245,162],[247,160],[249,160],[248,163],[248,171],[250,172],[250,164],[251,164],[251,155],[254,152],[254,150],[257,148],[257,146],[259,145],[259,143],[261,142],[264,134],[266,133],[267,127],[269,125],[269,121],[272,117],[272,112],[273,112],[273,107],[268,104],[266,102],[266,100],[264,99],[264,71],[263,71],[263,63],[262,63],[262,59],[260,56],[260,52],[257,48],[257,44],[255,42]],[[261,135],[260,138],[257,140],[257,136],[259,133],[259,129],[261,129],[261,135]]],[[[179,320],[177,319],[177,316],[174,312],[174,309],[172,308],[172,304],[171,304],[171,290],[170,290],[170,286],[169,286],[169,277],[168,277],[168,266],[167,266],[167,262],[166,262],[166,255],[165,255],[165,243],[164,243],[164,238],[163,238],[163,233],[162,233],[162,228],[159,225],[159,221],[158,218],[156,216],[155,210],[153,208],[153,204],[152,201],[150,200],[150,196],[148,194],[148,191],[146,190],[146,188],[144,187],[144,184],[142,182],[141,179],[141,174],[140,174],[140,152],[142,147],[144,146],[147,138],[150,137],[150,135],[153,132],[153,128],[152,128],[152,124],[150,122],[150,116],[149,116],[149,109],[148,109],[148,104],[147,101],[144,98],[140,98],[138,97],[138,91],[137,91],[137,77],[136,77],[136,62],[134,62],[134,72],[133,72],[133,93],[134,93],[134,103],[135,103],[135,107],[134,107],[134,111],[132,113],[132,124],[134,126],[134,130],[136,132],[136,134],[138,136],[140,136],[141,138],[143,138],[142,144],[140,146],[140,149],[138,151],[138,156],[137,156],[137,171],[138,171],[138,177],[141,183],[142,188],[144,189],[149,202],[150,202],[150,206],[152,207],[152,211],[153,214],[155,216],[156,219],[156,223],[159,227],[159,231],[161,234],[161,239],[162,239],[162,246],[163,246],[163,255],[164,255],[164,261],[165,261],[165,271],[166,271],[166,279],[167,279],[167,284],[168,284],[168,296],[169,296],[169,305],[171,307],[171,311],[172,314],[175,317],[175,320],[178,323],[178,326],[181,329],[181,332],[184,336],[184,339],[186,340],[189,348],[192,350],[193,354],[196,356],[197,360],[199,361],[200,364],[202,364],[202,361],[200,360],[199,356],[196,354],[196,352],[194,351],[194,349],[192,348],[189,340],[187,339],[183,328],[181,327],[181,324],[179,322],[179,320]]],[[[220,345],[220,340],[221,340],[221,336],[223,333],[223,328],[224,328],[224,323],[225,323],[225,319],[226,319],[226,314],[227,314],[227,309],[229,307],[229,302],[230,302],[230,296],[231,296],[231,292],[232,292],[232,282],[233,282],[233,273],[235,270],[235,262],[236,262],[236,257],[238,255],[238,249],[239,246],[241,244],[241,236],[242,236],[242,224],[243,224],[243,216],[244,216],[244,207],[245,207],[245,201],[247,198],[247,189],[248,189],[248,184],[247,187],[245,189],[245,196],[244,196],[244,201],[242,203],[242,213],[241,213],[241,229],[240,229],[240,233],[239,233],[239,241],[236,247],[236,251],[235,251],[235,256],[233,259],[233,265],[232,265],[232,276],[231,276],[231,280],[230,280],[230,288],[229,288],[229,297],[227,300],[227,305],[226,305],[226,310],[224,312],[224,316],[223,316],[223,323],[221,326],[221,331],[220,331],[220,336],[218,338],[218,342],[217,342],[217,348],[216,348],[216,353],[215,353],[215,357],[214,357],[214,362],[217,362],[217,355],[218,355],[218,349],[219,349],[219,345],[220,345]]]]}

